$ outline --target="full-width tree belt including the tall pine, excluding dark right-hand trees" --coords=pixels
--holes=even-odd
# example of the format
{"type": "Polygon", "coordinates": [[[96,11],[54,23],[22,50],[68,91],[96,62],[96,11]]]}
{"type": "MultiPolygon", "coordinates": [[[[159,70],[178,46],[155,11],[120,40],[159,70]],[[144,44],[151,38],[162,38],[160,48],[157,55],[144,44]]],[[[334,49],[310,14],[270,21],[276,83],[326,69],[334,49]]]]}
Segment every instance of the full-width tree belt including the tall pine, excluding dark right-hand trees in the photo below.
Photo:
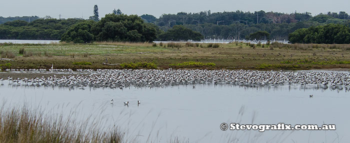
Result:
{"type": "MultiPolygon", "coordinates": [[[[23,18],[28,17],[23,16],[23,18]]],[[[88,20],[53,19],[45,16],[38,18],[37,21],[4,22],[0,24],[0,38],[61,39],[62,34],[65,33],[64,40],[75,42],[94,40],[150,41],[150,39],[198,40],[198,37],[201,39],[251,39],[251,33],[265,31],[269,36],[264,38],[288,40],[289,33],[296,29],[317,27],[329,23],[349,25],[349,15],[344,11],[320,13],[312,16],[309,12],[288,14],[263,10],[254,12],[237,10],[212,13],[207,10],[197,13],[162,14],[156,18],[149,14],[127,16],[122,14],[120,9],[113,9],[111,13],[106,14],[106,17],[99,19],[98,7],[94,5],[93,15],[88,20]],[[150,30],[151,36],[147,35],[149,33],[145,30],[150,30]],[[186,31],[185,36],[177,34],[183,31],[186,31]],[[69,39],[72,35],[85,38],[69,39]],[[174,35],[178,35],[178,37],[174,35]]]]}

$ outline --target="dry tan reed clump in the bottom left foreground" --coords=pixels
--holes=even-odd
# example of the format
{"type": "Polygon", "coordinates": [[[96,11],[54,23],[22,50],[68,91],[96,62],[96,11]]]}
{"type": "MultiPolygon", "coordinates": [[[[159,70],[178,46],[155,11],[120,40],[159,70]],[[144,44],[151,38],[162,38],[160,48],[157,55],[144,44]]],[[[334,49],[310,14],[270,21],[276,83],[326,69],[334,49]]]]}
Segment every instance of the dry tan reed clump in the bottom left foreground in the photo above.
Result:
{"type": "Polygon", "coordinates": [[[121,142],[123,134],[111,128],[102,131],[98,120],[77,122],[62,115],[9,107],[0,109],[0,142],[121,142]],[[48,113],[47,113],[48,114],[48,113]]]}

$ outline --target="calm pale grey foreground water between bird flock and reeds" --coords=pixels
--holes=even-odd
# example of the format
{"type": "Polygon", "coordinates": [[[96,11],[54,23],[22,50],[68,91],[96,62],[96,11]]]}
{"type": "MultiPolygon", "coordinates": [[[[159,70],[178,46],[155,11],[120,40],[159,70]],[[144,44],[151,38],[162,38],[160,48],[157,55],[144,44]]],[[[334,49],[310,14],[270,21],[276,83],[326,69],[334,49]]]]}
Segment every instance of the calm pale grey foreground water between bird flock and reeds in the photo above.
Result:
{"type": "Polygon", "coordinates": [[[0,99],[15,106],[27,103],[67,113],[79,119],[108,118],[137,142],[166,142],[176,136],[190,142],[349,142],[346,90],[305,88],[299,85],[242,87],[196,84],[158,88],[24,87],[0,85],[0,99]],[[314,97],[308,97],[313,94],[314,97]],[[110,100],[114,104],[110,104],[110,100]],[[137,100],[141,104],[137,106],[137,100]],[[130,101],[128,106],[124,101],[130,101]],[[62,108],[58,110],[56,108],[62,108]],[[64,106],[64,107],[63,107],[64,106]],[[242,114],[238,114],[243,109],[242,114]],[[225,130],[222,123],[335,124],[336,130],[225,130]],[[149,138],[148,138],[149,135],[149,138]],[[237,139],[239,141],[237,141],[237,139]],[[262,140],[262,141],[261,141],[262,140]]]}

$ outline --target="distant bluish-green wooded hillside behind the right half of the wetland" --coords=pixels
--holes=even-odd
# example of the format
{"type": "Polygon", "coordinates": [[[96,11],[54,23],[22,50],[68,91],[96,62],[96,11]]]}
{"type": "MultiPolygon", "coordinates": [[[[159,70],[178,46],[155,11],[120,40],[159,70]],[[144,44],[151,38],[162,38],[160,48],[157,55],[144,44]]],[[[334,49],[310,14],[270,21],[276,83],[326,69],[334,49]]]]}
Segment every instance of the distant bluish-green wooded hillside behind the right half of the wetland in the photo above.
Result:
{"type": "Polygon", "coordinates": [[[208,10],[197,13],[162,14],[159,18],[149,14],[140,17],[146,22],[156,24],[163,31],[174,25],[183,25],[200,32],[206,39],[247,39],[250,33],[267,31],[270,33],[270,39],[288,40],[288,34],[299,28],[349,22],[349,15],[344,11],[312,16],[309,12],[287,14],[263,10],[255,12],[237,10],[211,13],[208,10]]]}

